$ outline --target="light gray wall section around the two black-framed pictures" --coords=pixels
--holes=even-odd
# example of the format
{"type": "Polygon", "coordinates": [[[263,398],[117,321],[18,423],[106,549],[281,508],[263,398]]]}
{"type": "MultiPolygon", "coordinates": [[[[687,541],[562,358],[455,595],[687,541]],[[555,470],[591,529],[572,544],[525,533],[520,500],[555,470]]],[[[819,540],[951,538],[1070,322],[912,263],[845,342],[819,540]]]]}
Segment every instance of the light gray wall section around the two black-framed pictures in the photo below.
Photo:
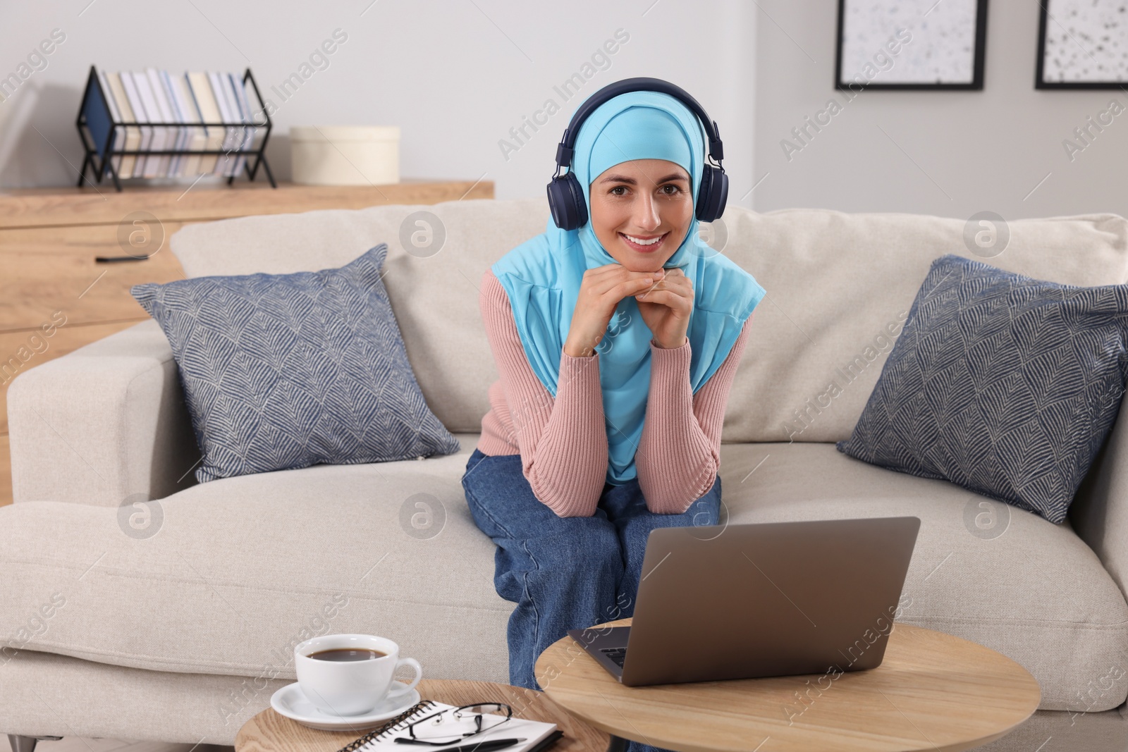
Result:
{"type": "MultiPolygon", "coordinates": [[[[935,2],[904,1],[923,11],[935,2]]],[[[779,142],[791,129],[828,99],[845,101],[834,88],[838,3],[757,3],[756,177],[768,174],[757,210],[1128,213],[1128,113],[1073,161],[1061,145],[1110,100],[1128,106],[1128,95],[1034,89],[1038,2],[990,0],[982,91],[862,91],[790,161],[779,142]]]]}

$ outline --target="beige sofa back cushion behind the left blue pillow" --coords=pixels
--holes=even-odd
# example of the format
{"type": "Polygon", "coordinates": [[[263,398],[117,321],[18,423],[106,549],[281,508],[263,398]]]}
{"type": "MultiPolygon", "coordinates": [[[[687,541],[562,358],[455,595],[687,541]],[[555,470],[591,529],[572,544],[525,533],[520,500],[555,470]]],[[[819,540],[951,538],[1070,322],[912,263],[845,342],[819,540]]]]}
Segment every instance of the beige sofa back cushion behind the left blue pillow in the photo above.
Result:
{"type": "Polygon", "coordinates": [[[490,410],[486,389],[499,378],[478,282],[503,254],[544,232],[548,206],[539,204],[468,200],[243,216],[186,225],[169,247],[194,277],[311,272],[387,242],[384,284],[423,396],[447,428],[477,433],[490,410]],[[415,247],[413,236],[433,246],[415,247]]]}

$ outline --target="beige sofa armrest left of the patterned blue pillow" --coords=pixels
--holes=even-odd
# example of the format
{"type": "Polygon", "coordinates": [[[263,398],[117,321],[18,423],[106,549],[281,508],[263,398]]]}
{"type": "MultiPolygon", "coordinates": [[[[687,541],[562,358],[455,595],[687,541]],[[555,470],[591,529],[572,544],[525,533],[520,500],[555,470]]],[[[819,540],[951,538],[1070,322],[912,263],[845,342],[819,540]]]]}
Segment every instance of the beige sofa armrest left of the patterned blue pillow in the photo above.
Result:
{"type": "Polygon", "coordinates": [[[195,484],[192,421],[152,319],[20,373],[8,426],[16,503],[118,506],[195,484]]]}

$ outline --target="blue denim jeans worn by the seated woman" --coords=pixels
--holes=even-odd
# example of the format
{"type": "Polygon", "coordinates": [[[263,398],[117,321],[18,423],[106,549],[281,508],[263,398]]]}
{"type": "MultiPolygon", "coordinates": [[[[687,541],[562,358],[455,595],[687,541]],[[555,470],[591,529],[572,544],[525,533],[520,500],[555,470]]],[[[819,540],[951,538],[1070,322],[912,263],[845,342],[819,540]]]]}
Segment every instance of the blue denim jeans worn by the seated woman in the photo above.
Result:
{"type": "MultiPolygon", "coordinates": [[[[509,619],[509,681],[540,689],[537,656],[569,629],[634,613],[646,537],[654,528],[716,524],[721,478],[684,514],[655,514],[634,479],[606,484],[590,517],[559,517],[532,493],[520,454],[470,454],[462,476],[474,522],[490,536],[494,587],[517,603],[509,619]]],[[[632,742],[631,752],[654,747],[632,742]]]]}

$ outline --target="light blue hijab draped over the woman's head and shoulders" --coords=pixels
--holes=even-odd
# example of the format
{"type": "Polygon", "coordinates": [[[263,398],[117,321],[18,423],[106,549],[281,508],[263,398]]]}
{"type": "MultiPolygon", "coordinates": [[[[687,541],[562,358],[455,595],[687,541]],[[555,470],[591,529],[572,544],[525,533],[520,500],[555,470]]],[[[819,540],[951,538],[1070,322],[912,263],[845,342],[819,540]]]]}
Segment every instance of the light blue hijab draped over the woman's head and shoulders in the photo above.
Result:
{"type": "MultiPolygon", "coordinates": [[[[609,167],[634,159],[666,159],[684,167],[693,178],[696,210],[705,159],[705,134],[697,117],[666,94],[622,94],[600,105],[580,126],[575,140],[572,168],[580,185],[589,189],[589,221],[578,230],[561,230],[549,218],[545,232],[491,267],[509,295],[529,365],[554,398],[583,273],[617,263],[591,229],[590,185],[609,167]]],[[[695,393],[724,362],[765,294],[751,274],[705,245],[697,225],[695,216],[666,263],[667,268],[681,268],[694,286],[687,336],[695,393]]],[[[607,424],[607,483],[614,485],[637,476],[634,455],[646,414],[652,336],[629,297],[619,301],[596,348],[607,424]]],[[[511,412],[518,409],[510,405],[511,412]]]]}

